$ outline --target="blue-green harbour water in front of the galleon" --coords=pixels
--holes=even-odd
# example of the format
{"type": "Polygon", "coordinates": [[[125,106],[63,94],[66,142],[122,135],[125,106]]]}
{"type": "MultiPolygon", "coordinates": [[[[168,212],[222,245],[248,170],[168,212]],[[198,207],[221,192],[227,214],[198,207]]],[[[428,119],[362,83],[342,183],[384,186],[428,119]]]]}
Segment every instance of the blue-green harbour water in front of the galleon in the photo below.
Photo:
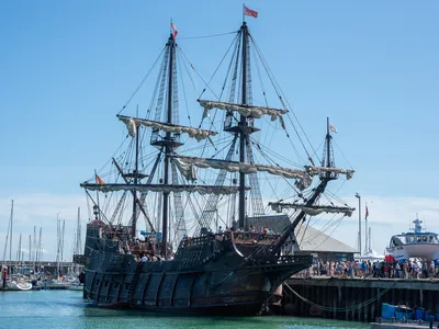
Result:
{"type": "Polygon", "coordinates": [[[328,319],[281,316],[181,317],[137,310],[97,308],[81,292],[0,292],[0,328],[233,328],[317,329],[369,328],[368,325],[328,319]]]}

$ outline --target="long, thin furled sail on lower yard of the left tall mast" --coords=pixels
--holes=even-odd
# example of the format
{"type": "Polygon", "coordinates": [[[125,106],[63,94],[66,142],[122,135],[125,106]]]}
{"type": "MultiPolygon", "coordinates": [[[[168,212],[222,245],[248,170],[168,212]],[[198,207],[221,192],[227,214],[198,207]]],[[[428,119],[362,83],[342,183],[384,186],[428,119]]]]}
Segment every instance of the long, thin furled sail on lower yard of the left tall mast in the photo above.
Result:
{"type": "Polygon", "coordinates": [[[236,194],[237,186],[215,185],[165,185],[165,184],[89,184],[81,183],[81,188],[90,191],[115,192],[115,191],[139,191],[139,192],[198,192],[200,194],[236,194]]]}

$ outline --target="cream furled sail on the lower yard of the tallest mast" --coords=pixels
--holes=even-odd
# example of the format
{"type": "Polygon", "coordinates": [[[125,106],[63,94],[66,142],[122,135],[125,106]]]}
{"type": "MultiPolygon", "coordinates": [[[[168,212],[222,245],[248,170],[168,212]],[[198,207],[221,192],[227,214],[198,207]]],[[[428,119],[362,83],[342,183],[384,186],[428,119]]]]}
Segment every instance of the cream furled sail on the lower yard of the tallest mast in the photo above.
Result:
{"type": "Polygon", "coordinates": [[[195,166],[199,168],[225,169],[229,172],[239,171],[244,173],[252,173],[257,171],[266,171],[268,173],[281,175],[286,179],[297,179],[303,183],[304,189],[308,188],[312,182],[307,172],[292,168],[183,156],[173,156],[173,161],[179,168],[181,174],[184,175],[187,180],[196,179],[194,172],[195,166]]]}

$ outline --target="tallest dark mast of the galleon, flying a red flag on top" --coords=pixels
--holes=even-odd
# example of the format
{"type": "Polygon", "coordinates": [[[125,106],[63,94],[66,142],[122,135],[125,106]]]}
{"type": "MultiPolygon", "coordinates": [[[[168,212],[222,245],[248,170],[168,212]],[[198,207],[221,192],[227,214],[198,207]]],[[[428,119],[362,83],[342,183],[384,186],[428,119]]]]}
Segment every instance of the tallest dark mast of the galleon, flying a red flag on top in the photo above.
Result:
{"type": "MultiPolygon", "coordinates": [[[[248,29],[246,22],[243,22],[243,26],[240,27],[243,33],[243,61],[241,61],[241,81],[243,81],[243,90],[241,90],[241,103],[247,104],[247,43],[248,43],[248,29]]],[[[240,115],[239,118],[239,162],[246,161],[246,134],[244,132],[244,127],[247,126],[247,117],[240,115]]],[[[239,172],[239,227],[246,229],[246,174],[244,172],[239,172]]]]}

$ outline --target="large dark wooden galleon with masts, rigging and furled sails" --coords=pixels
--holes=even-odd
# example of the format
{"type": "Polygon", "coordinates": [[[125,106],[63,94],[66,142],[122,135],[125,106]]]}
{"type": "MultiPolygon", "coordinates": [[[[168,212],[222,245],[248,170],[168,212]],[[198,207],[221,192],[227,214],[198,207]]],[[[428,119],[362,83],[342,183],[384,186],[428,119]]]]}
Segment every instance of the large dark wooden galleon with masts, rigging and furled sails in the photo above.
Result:
{"type": "MultiPolygon", "coordinates": [[[[87,225],[85,254],[76,258],[85,264],[83,295],[108,307],[257,314],[277,287],[312,264],[311,254],[285,248],[295,243],[297,224],[322,213],[353,212],[346,204],[318,202],[329,182],[350,179],[353,170],[334,166],[329,122],[317,166],[311,154],[305,167],[280,166],[272,149],[252,137],[260,131],[256,122],[270,118],[264,124],[290,139],[284,120],[290,116],[280,95],[281,109],[252,104],[250,45],[256,43],[245,22],[226,53],[230,63],[222,90],[228,86],[229,93],[198,98],[207,128],[180,124],[177,55],[187,56],[176,36],[172,24],[145,117],[117,114],[130,150],[80,184],[94,215],[87,225]],[[218,122],[222,128],[215,128],[218,122]],[[201,147],[184,149],[196,143],[201,147]],[[268,164],[257,162],[257,151],[268,164]],[[274,177],[296,193],[264,207],[260,177],[274,177]],[[288,225],[273,231],[279,217],[288,225]],[[142,218],[145,229],[139,229],[142,218]]],[[[252,54],[263,58],[257,46],[252,54]]],[[[194,69],[191,63],[188,67],[194,69]]],[[[263,67],[274,81],[264,61],[263,67]]],[[[204,91],[211,90],[206,84],[204,91]]],[[[292,162],[286,154],[280,158],[292,162]]]]}

